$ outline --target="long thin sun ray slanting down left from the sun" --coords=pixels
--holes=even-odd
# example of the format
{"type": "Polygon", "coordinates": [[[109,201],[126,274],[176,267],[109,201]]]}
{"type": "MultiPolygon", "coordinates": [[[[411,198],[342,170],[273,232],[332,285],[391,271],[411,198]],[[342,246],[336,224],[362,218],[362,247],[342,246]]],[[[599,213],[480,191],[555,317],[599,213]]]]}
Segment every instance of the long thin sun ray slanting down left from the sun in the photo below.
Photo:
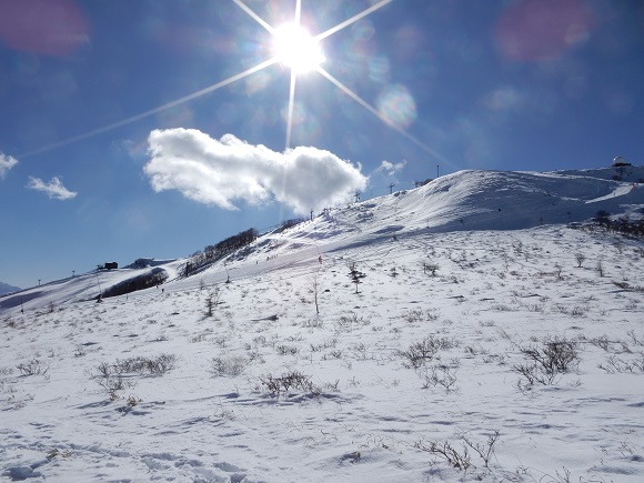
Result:
{"type": "Polygon", "coordinates": [[[98,129],[94,129],[92,131],[88,131],[85,133],[78,134],[78,135],[74,135],[74,137],[71,137],[68,139],[63,139],[62,141],[58,141],[58,142],[44,145],[42,148],[34,149],[32,151],[24,152],[24,153],[20,154],[20,157],[28,158],[30,155],[40,154],[42,152],[47,152],[47,151],[50,151],[50,150],[56,149],[56,148],[68,145],[68,144],[71,144],[71,143],[77,142],[77,141],[82,141],[83,139],[92,138],[94,135],[102,134],[103,132],[108,132],[108,131],[111,131],[113,129],[118,129],[118,128],[121,128],[123,125],[131,124],[132,122],[139,121],[139,120],[148,118],[150,115],[158,114],[159,112],[162,112],[162,111],[167,111],[168,109],[172,109],[177,105],[183,104],[188,101],[200,98],[200,97],[205,95],[210,92],[213,92],[218,89],[221,89],[225,85],[229,85],[233,82],[237,82],[238,80],[241,80],[241,79],[243,79],[248,76],[251,76],[255,72],[259,72],[260,70],[265,69],[266,67],[270,67],[270,66],[276,63],[278,61],[279,61],[278,58],[273,57],[269,60],[265,60],[261,63],[258,63],[254,67],[251,67],[250,69],[244,70],[243,72],[231,76],[228,79],[224,79],[220,82],[217,82],[212,85],[209,85],[209,87],[201,89],[197,92],[193,92],[191,94],[179,98],[174,101],[167,102],[165,104],[162,104],[162,105],[159,105],[157,108],[150,109],[148,111],[141,112],[140,114],[135,114],[135,115],[132,115],[130,118],[125,118],[121,121],[113,122],[113,123],[108,124],[108,125],[103,125],[102,128],[98,128],[98,129]]]}

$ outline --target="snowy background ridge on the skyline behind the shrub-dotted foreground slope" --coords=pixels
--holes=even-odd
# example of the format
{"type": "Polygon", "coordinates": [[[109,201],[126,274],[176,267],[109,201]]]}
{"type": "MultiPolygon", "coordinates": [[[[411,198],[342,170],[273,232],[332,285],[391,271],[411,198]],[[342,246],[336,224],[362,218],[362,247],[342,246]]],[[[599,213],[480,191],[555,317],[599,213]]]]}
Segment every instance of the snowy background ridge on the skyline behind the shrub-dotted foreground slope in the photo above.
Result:
{"type": "MultiPolygon", "coordinates": [[[[346,208],[329,210],[279,234],[266,234],[241,260],[231,256],[224,262],[237,273],[254,275],[265,266],[244,266],[260,263],[278,254],[289,253],[292,259],[318,256],[342,246],[362,245],[396,234],[436,233],[454,230],[520,230],[541,224],[582,222],[603,210],[624,214],[644,204],[644,168],[628,167],[622,177],[610,179],[615,169],[562,171],[552,173],[466,170],[449,174],[414,190],[396,192],[346,208]],[[237,262],[237,263],[235,263],[237,262]]],[[[177,280],[185,259],[168,263],[155,261],[164,269],[169,281],[177,280]]],[[[269,263],[273,266],[276,263],[269,263]]],[[[213,281],[225,280],[223,262],[210,270],[213,281]],[[217,272],[217,275],[213,274],[217,272]]],[[[2,310],[24,306],[43,309],[90,300],[102,290],[149,269],[122,269],[92,272],[73,279],[51,282],[21,291],[12,296],[0,296],[2,310]]],[[[227,275],[228,278],[228,275],[227,275]]],[[[180,282],[181,288],[194,285],[195,280],[180,282]]]]}

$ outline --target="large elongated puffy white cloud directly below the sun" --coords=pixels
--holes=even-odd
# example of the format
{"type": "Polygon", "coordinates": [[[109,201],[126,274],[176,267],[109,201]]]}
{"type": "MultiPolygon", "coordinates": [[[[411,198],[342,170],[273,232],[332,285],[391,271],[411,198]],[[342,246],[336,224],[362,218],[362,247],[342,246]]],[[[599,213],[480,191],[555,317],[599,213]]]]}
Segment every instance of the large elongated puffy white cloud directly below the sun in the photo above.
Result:
{"type": "Polygon", "coordinates": [[[178,190],[200,203],[237,210],[235,201],[273,199],[298,213],[342,203],[366,178],[333,153],[295,148],[284,153],[249,144],[232,134],[220,140],[195,129],[154,130],[143,168],[157,192],[178,190]]]}

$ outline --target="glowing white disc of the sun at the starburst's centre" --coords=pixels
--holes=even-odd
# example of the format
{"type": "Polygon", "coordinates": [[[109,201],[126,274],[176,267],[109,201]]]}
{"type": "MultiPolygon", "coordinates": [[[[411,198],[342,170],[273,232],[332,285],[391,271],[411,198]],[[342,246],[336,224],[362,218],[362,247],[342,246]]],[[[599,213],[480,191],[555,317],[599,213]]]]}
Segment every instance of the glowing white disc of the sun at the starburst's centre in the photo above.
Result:
{"type": "Polygon", "coordinates": [[[286,23],[274,32],[275,56],[295,73],[305,73],[324,62],[320,44],[306,29],[296,23],[286,23]]]}

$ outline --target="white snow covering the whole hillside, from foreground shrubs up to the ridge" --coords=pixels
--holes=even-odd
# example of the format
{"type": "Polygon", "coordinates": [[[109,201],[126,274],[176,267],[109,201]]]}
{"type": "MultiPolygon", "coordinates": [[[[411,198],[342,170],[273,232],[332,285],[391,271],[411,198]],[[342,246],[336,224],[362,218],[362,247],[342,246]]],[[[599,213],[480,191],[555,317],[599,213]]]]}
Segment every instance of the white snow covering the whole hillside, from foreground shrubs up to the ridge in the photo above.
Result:
{"type": "Polygon", "coordinates": [[[150,269],[2,296],[0,479],[644,481],[644,243],[571,228],[642,209],[644,170],[613,172],[462,171],[102,303],[99,283],[150,269]],[[426,338],[442,348],[414,368],[426,338]],[[529,386],[513,368],[545,338],[578,364],[529,386]],[[271,391],[295,372],[311,384],[271,391]],[[423,451],[496,432],[466,471],[423,451]]]}

